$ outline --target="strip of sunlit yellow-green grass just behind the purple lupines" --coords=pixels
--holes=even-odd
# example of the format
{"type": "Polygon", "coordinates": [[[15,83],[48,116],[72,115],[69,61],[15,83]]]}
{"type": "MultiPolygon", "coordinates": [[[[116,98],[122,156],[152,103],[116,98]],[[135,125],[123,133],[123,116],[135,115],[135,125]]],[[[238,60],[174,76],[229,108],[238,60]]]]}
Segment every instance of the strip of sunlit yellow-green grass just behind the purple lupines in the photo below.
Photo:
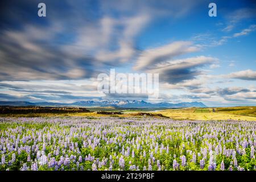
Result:
{"type": "MultiPolygon", "coordinates": [[[[105,109],[102,109],[105,110],[105,109]]],[[[112,109],[113,110],[113,109],[112,109]]],[[[116,110],[115,110],[116,111],[116,110]]],[[[123,114],[97,114],[92,113],[67,113],[67,114],[54,114],[54,113],[37,113],[37,114],[0,114],[0,117],[144,117],[141,115],[141,110],[122,110],[123,114]]],[[[256,121],[256,106],[240,106],[240,107],[214,107],[214,108],[199,108],[190,107],[183,109],[166,109],[159,111],[144,111],[148,114],[147,117],[170,117],[172,119],[182,120],[226,120],[234,119],[240,121],[256,121]]]]}

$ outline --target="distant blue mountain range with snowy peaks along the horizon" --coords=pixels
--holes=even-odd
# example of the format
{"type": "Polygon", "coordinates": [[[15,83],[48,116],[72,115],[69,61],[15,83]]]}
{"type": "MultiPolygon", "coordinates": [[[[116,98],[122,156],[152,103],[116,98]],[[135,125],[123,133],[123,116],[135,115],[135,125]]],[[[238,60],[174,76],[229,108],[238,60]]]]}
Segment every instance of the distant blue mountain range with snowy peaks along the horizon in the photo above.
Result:
{"type": "Polygon", "coordinates": [[[146,101],[128,101],[128,100],[102,100],[102,101],[80,101],[73,102],[71,104],[55,103],[55,102],[24,102],[24,101],[0,101],[2,106],[73,106],[73,107],[150,107],[150,108],[180,108],[180,107],[207,107],[202,102],[180,102],[178,104],[172,104],[170,102],[160,102],[152,104],[146,101]]]}

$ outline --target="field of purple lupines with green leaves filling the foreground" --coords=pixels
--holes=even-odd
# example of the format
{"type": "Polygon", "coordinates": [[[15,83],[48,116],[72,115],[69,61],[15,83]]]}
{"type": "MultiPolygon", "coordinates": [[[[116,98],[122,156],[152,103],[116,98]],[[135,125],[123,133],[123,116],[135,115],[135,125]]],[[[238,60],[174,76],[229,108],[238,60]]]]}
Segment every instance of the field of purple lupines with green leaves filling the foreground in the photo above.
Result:
{"type": "Polygon", "coordinates": [[[0,170],[256,170],[256,122],[0,118],[0,170]]]}

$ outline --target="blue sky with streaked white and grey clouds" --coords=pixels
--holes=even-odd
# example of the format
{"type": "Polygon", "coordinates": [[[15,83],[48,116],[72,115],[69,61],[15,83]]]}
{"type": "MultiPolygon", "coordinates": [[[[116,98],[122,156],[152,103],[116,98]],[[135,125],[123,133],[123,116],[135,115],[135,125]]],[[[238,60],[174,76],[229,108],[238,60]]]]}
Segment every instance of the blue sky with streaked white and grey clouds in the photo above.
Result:
{"type": "Polygon", "coordinates": [[[256,105],[255,1],[0,4],[0,101],[256,105]],[[159,73],[159,98],[99,93],[97,76],[110,69],[159,73]]]}

